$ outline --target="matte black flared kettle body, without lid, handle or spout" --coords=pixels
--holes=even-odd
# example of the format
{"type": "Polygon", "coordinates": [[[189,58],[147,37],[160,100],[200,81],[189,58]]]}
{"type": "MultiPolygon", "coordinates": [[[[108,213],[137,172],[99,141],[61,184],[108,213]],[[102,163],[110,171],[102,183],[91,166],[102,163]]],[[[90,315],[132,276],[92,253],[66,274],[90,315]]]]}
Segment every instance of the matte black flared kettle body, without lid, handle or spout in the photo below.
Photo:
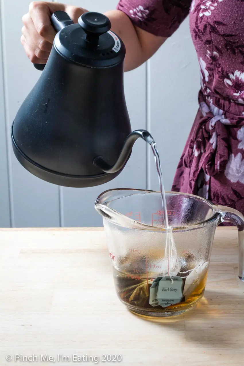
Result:
{"type": "Polygon", "coordinates": [[[119,174],[93,160],[114,164],[131,132],[123,86],[123,63],[91,68],[52,49],[48,62],[12,124],[20,163],[50,183],[90,187],[119,174]]]}

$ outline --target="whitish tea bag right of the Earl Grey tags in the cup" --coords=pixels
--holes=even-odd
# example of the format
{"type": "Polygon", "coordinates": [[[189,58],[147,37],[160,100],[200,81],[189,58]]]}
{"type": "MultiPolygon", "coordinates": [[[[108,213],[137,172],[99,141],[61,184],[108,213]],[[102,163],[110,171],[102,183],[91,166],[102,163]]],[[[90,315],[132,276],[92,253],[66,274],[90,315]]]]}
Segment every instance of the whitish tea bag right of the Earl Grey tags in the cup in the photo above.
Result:
{"type": "Polygon", "coordinates": [[[200,282],[203,280],[209,268],[209,262],[200,262],[191,273],[185,279],[183,295],[185,300],[189,298],[192,292],[199,286],[200,282]]]}

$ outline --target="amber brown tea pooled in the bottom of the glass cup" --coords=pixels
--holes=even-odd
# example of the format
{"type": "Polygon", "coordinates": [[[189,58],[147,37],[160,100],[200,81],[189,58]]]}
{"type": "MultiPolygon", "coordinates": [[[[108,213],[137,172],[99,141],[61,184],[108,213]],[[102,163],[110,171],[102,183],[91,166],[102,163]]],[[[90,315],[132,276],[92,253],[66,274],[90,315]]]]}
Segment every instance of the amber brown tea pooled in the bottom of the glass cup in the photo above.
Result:
{"type": "Polygon", "coordinates": [[[207,273],[200,281],[198,287],[192,292],[189,298],[178,304],[170,305],[168,307],[162,306],[151,306],[149,304],[149,291],[151,283],[148,283],[148,273],[136,275],[134,272],[123,273],[119,272],[113,268],[113,276],[115,282],[115,288],[117,296],[119,299],[129,307],[130,310],[142,310],[144,315],[145,312],[150,313],[165,313],[165,312],[177,312],[182,310],[187,310],[188,308],[194,306],[200,298],[202,298],[206,280],[207,273]]]}

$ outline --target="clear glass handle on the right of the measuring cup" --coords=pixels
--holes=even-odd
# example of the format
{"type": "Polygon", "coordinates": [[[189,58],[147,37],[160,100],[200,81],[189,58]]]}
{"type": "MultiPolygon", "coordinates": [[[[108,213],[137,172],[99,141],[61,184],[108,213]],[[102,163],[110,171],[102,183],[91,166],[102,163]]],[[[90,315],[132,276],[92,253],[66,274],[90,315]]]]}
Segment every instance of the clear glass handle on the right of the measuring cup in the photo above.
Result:
{"type": "Polygon", "coordinates": [[[214,208],[221,214],[219,224],[229,222],[238,229],[238,276],[240,280],[244,281],[244,216],[230,207],[214,206],[214,208]]]}

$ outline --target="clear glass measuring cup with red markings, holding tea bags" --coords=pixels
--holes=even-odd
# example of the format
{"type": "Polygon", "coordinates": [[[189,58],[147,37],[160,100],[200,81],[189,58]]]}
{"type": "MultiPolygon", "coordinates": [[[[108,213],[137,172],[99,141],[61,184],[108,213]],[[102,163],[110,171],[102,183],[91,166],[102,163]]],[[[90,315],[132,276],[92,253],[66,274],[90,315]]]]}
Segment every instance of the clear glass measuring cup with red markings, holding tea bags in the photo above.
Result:
{"type": "Polygon", "coordinates": [[[175,243],[170,258],[165,257],[160,192],[108,190],[95,202],[103,217],[119,299],[129,310],[153,317],[179,315],[200,301],[215,229],[223,221],[239,230],[239,278],[244,280],[244,216],[240,212],[183,193],[166,192],[166,203],[175,243]]]}

